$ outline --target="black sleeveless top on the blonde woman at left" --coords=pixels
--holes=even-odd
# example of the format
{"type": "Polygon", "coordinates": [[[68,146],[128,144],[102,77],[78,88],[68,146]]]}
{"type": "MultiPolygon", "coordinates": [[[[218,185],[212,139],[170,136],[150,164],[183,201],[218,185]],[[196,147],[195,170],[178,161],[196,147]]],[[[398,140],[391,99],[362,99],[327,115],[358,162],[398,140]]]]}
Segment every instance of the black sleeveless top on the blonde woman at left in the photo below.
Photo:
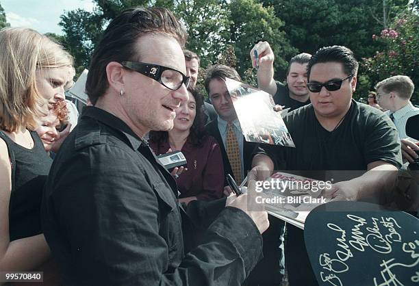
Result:
{"type": "MultiPolygon", "coordinates": [[[[34,147],[27,149],[0,131],[0,138],[8,146],[10,157],[14,155],[14,181],[9,203],[10,242],[42,233],[40,205],[42,189],[51,168],[52,159],[44,150],[35,131],[30,131],[34,147]]],[[[11,163],[13,163],[11,161],[11,163]]]]}

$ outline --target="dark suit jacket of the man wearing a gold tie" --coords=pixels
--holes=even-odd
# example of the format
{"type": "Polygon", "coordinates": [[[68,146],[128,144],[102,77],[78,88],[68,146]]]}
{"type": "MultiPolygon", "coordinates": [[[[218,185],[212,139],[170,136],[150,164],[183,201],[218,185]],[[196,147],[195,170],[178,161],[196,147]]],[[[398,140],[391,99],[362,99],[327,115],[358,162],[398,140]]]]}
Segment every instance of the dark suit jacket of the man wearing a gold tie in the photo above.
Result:
{"type": "MultiPolygon", "coordinates": [[[[223,156],[223,164],[224,164],[224,177],[227,174],[233,174],[233,170],[231,169],[231,165],[229,162],[229,157],[227,157],[227,152],[225,151],[225,146],[223,144],[223,139],[221,138],[220,131],[218,130],[218,120],[215,118],[210,123],[205,126],[207,132],[212,135],[212,137],[216,138],[218,145],[221,148],[221,155],[223,156]]],[[[243,138],[244,140],[244,138],[243,138]]],[[[244,177],[248,171],[252,168],[252,159],[253,159],[253,151],[256,147],[256,143],[254,142],[247,142],[246,140],[243,141],[243,157],[240,158],[243,161],[244,165],[244,177]]],[[[227,181],[224,180],[224,185],[227,185],[227,181]]]]}

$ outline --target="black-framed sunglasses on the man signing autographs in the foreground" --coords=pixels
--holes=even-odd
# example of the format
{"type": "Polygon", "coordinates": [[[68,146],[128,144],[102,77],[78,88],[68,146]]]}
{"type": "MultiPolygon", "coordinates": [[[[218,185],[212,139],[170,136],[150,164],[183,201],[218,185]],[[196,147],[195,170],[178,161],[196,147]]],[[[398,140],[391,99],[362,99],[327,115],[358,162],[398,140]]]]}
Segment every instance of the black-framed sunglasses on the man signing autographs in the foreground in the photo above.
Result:
{"type": "Polygon", "coordinates": [[[179,90],[182,83],[185,83],[186,88],[189,86],[190,77],[186,77],[186,75],[174,68],[159,66],[158,64],[147,64],[145,62],[123,61],[120,64],[125,68],[154,79],[169,90],[179,90]]]}

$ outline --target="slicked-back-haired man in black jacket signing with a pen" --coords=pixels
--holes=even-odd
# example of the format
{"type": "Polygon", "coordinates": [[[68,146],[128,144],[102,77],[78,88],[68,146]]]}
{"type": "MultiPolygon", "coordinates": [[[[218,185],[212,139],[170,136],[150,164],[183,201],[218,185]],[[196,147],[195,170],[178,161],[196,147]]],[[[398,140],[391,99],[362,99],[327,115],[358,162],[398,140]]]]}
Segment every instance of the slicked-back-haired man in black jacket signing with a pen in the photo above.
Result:
{"type": "Polygon", "coordinates": [[[97,44],[86,82],[93,106],[55,158],[42,205],[66,285],[241,285],[261,256],[266,212],[244,211],[246,194],[183,209],[142,140],[173,128],[188,99],[185,41],[168,10],[132,8],[97,44]],[[206,229],[199,243],[195,229],[206,229]]]}

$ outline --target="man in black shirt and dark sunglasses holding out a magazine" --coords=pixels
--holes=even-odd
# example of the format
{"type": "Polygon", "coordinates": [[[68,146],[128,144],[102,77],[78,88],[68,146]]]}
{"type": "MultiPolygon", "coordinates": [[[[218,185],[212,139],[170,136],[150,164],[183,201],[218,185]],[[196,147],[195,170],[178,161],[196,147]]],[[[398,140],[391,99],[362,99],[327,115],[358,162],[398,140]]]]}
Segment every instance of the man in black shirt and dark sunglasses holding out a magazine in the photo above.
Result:
{"type": "MultiPolygon", "coordinates": [[[[379,203],[390,192],[401,167],[396,127],[383,112],[352,99],[357,70],[358,62],[346,47],[325,47],[312,56],[307,66],[311,104],[284,118],[296,148],[261,148],[253,158],[259,179],[272,170],[286,170],[305,177],[321,174],[314,179],[330,181],[333,177],[327,174],[341,170],[348,177],[325,190],[326,198],[379,203]]],[[[303,231],[291,225],[287,229],[285,262],[290,285],[317,285],[303,231]]]]}

